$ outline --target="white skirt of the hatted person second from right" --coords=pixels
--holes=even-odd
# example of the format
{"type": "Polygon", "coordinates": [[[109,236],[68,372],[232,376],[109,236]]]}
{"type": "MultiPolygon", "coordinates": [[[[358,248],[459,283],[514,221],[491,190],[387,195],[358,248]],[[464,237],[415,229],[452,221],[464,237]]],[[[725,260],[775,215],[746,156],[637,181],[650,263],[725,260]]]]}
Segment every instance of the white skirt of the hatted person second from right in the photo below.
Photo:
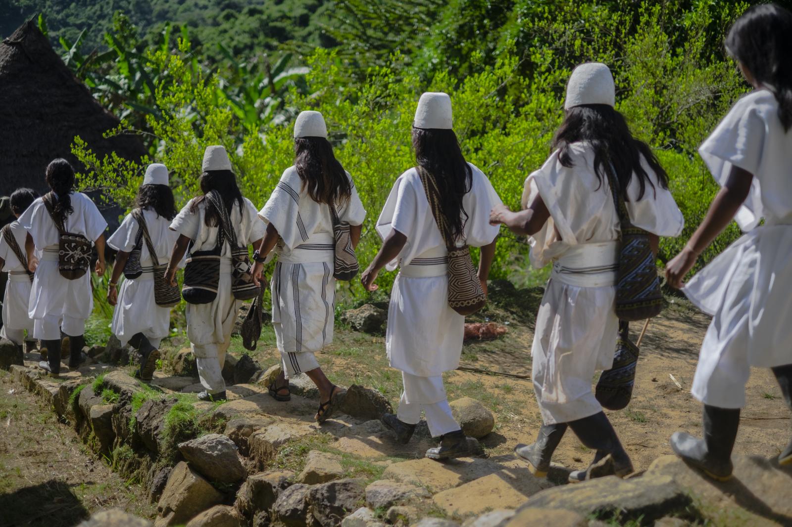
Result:
{"type": "Polygon", "coordinates": [[[602,411],[592,377],[613,366],[619,332],[615,297],[615,286],[572,286],[557,277],[547,283],[531,347],[531,378],[545,424],[602,411]]]}

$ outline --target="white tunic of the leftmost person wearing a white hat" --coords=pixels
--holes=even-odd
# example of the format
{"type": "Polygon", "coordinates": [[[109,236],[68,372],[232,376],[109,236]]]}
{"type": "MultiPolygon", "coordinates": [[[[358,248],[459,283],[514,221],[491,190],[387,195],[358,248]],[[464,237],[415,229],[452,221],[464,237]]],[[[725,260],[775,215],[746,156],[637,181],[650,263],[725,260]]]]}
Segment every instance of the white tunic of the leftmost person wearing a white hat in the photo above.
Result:
{"type": "MultiPolygon", "coordinates": [[[[151,244],[157,252],[158,262],[166,264],[179,234],[168,228],[169,219],[162,218],[153,209],[143,210],[143,218],[146,220],[151,244]]],[[[116,251],[131,252],[135,248],[139,229],[135,218],[127,214],[116,232],[108,238],[107,244],[116,251]]],[[[154,262],[146,241],[141,240],[141,244],[140,265],[143,267],[143,275],[133,280],[124,279],[118,291],[116,309],[112,313],[110,328],[122,346],[135,333],[143,332],[149,339],[162,339],[169,333],[170,308],[161,307],[154,301],[154,271],[151,269],[154,262]]]]}

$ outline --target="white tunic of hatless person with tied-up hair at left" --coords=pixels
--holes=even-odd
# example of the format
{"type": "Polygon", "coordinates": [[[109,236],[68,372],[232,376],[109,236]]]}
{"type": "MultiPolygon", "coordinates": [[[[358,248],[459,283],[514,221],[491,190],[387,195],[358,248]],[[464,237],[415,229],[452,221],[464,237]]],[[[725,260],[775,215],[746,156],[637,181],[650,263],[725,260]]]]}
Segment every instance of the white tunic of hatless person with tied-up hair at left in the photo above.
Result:
{"type": "MultiPolygon", "coordinates": [[[[74,212],[67,215],[64,222],[67,232],[82,234],[90,241],[96,241],[107,228],[97,206],[82,192],[71,194],[71,206],[74,212]]],[[[58,248],[58,229],[41,198],[25,210],[19,223],[28,229],[36,249],[58,248]]],[[[66,315],[73,319],[87,319],[93,310],[90,273],[68,280],[60,275],[58,267],[57,252],[44,251],[30,291],[30,317],[40,320],[66,315]]]]}

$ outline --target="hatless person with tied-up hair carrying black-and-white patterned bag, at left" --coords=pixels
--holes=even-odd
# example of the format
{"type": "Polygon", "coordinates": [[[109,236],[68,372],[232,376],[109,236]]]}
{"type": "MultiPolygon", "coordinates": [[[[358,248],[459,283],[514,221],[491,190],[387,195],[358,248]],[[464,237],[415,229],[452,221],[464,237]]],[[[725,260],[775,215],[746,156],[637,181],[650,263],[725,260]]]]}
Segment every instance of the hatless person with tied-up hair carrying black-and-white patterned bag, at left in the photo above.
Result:
{"type": "MultiPolygon", "coordinates": [[[[96,273],[105,274],[105,229],[107,222],[88,196],[74,191],[74,169],[65,159],[55,159],[47,166],[46,180],[54,203],[53,214],[63,222],[67,233],[80,234],[93,241],[97,251],[96,273]]],[[[90,272],[78,279],[64,278],[59,271],[60,235],[42,198],[36,199],[20,216],[19,223],[28,230],[25,244],[28,266],[35,271],[30,291],[28,314],[33,319],[33,336],[47,348],[48,362],[40,368],[53,376],[60,373],[61,331],[69,337],[69,367],[78,367],[86,320],[93,311],[90,272]],[[41,260],[35,252],[41,251],[41,260]]]]}

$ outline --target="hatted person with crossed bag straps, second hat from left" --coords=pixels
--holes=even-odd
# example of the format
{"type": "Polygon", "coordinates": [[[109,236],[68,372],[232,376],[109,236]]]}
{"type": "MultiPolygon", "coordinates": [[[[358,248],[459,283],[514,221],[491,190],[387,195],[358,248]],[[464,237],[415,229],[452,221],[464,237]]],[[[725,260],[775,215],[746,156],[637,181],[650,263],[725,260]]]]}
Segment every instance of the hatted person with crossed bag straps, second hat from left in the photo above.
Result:
{"type": "MultiPolygon", "coordinates": [[[[256,207],[239,191],[223,146],[207,146],[202,169],[200,188],[204,195],[191,199],[169,227],[179,233],[166,271],[166,278],[173,286],[176,285],[177,267],[188,248],[190,252],[197,252],[218,245],[219,211],[206,199],[210,191],[219,192],[240,247],[257,247],[265,232],[256,207]]],[[[227,237],[224,237],[220,249],[217,297],[208,304],[187,304],[187,337],[196,357],[198,376],[204,385],[204,391],[198,394],[200,400],[227,398],[223,364],[231,343],[234,320],[242,306],[242,301],[234,298],[231,291],[232,270],[231,248],[227,237]]]]}

